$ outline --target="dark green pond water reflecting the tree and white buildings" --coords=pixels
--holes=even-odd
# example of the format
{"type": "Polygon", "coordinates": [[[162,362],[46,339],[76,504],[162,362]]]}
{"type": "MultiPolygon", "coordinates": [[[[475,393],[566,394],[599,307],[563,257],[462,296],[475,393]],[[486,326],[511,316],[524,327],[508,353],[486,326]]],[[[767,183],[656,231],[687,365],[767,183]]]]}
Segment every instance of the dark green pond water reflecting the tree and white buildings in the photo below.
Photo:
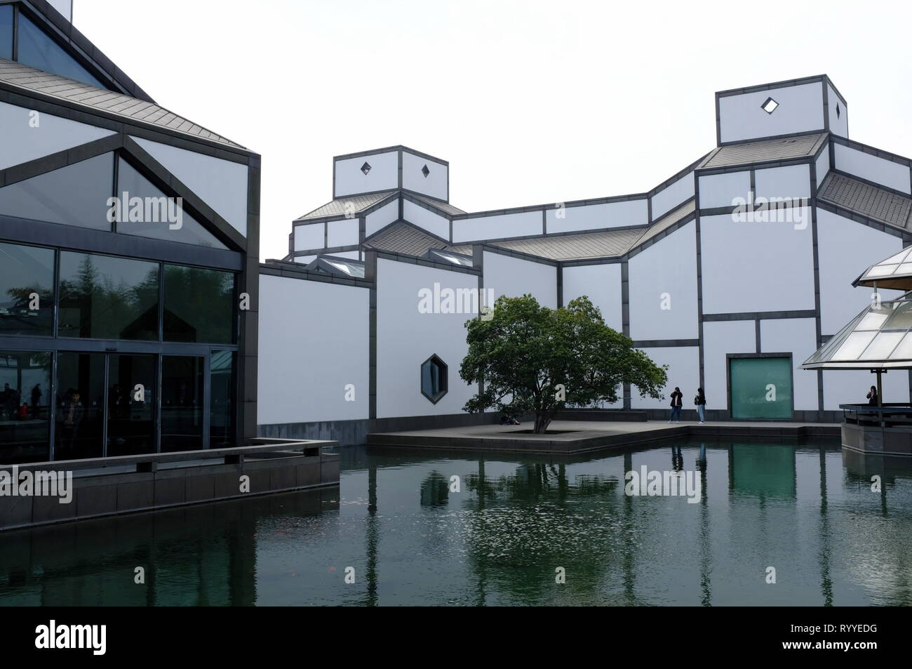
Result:
{"type": "MultiPolygon", "coordinates": [[[[0,534],[0,604],[912,604],[912,462],[703,444],[697,503],[625,495],[672,444],[347,448],[339,488],[0,534]]],[[[674,445],[694,471],[700,443],[674,445]]]]}

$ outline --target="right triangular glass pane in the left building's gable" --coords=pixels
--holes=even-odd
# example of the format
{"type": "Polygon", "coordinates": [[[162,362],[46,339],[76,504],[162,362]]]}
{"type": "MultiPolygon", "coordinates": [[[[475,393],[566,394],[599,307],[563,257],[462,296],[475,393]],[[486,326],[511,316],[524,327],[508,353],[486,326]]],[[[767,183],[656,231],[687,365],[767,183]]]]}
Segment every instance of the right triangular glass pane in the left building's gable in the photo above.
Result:
{"type": "Polygon", "coordinates": [[[128,193],[128,201],[134,197],[140,197],[143,198],[144,203],[171,203],[170,208],[168,204],[164,207],[160,206],[158,215],[155,215],[155,210],[150,210],[150,214],[147,216],[145,210],[143,210],[141,216],[143,220],[141,221],[131,220],[140,216],[138,214],[135,216],[129,215],[132,207],[124,203],[124,213],[121,214],[121,220],[117,225],[119,233],[162,239],[168,242],[194,244],[196,246],[228,248],[186,211],[181,210],[180,221],[177,220],[176,216],[173,217],[173,220],[169,220],[169,212],[175,214],[177,211],[176,200],[169,198],[155,184],[151,183],[140,172],[137,172],[130,162],[125,161],[123,158],[119,159],[117,193],[121,202],[124,200],[124,193],[128,193]],[[166,199],[162,201],[161,198],[166,199]]]}

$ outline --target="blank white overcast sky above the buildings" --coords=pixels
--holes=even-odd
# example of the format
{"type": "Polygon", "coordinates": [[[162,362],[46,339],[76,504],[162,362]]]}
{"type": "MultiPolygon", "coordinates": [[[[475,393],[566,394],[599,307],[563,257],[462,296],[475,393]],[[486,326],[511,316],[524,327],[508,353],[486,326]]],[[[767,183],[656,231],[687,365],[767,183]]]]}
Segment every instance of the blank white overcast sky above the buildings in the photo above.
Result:
{"type": "Polygon", "coordinates": [[[261,257],[332,156],[450,162],[466,211],[641,193],[715,146],[716,90],[828,74],[857,141],[912,157],[908,2],[75,0],[162,106],[263,156],[261,257]]]}

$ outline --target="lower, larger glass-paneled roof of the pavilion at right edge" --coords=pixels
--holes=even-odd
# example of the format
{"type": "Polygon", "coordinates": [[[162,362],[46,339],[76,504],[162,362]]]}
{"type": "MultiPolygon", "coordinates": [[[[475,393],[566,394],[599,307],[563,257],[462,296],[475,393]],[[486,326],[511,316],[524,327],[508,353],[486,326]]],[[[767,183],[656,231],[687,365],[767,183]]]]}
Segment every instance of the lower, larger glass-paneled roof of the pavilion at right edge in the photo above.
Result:
{"type": "Polygon", "coordinates": [[[872,302],[804,361],[802,367],[805,370],[912,368],[912,292],[890,301],[872,302]]]}

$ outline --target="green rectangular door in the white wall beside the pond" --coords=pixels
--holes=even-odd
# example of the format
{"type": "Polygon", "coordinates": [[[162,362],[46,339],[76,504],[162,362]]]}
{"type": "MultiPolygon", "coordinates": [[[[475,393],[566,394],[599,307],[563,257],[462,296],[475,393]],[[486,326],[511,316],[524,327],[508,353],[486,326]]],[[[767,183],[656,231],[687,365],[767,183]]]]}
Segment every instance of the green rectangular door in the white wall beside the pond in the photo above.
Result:
{"type": "Polygon", "coordinates": [[[731,417],[792,419],[790,358],[731,358],[731,417]]]}

